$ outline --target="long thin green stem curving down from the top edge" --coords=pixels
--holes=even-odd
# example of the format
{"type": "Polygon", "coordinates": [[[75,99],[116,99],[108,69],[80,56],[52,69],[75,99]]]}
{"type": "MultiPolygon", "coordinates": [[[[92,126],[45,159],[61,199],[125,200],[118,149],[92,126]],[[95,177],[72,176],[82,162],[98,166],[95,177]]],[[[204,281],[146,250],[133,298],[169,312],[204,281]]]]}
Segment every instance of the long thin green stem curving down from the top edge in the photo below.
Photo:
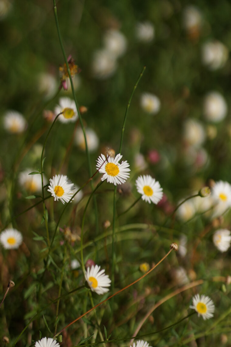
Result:
{"type": "MultiPolygon", "coordinates": [[[[66,69],[67,69],[68,76],[69,76],[70,83],[71,83],[72,95],[73,95],[75,106],[76,106],[76,109],[77,109],[77,112],[78,112],[78,115],[79,115],[79,122],[80,122],[80,125],[81,125],[81,128],[82,128],[82,132],[83,132],[83,136],[84,136],[84,141],[85,141],[85,146],[86,146],[86,154],[87,154],[87,161],[88,161],[88,171],[89,171],[89,176],[91,177],[92,176],[92,168],[91,168],[90,152],[89,152],[88,144],[87,144],[86,131],[85,131],[85,127],[83,125],[82,116],[81,116],[81,113],[80,113],[80,110],[79,110],[79,105],[78,105],[78,102],[77,102],[77,99],[76,99],[76,95],[75,95],[75,92],[74,92],[74,84],[73,84],[72,77],[71,77],[71,71],[70,71],[70,68],[69,68],[68,60],[66,58],[66,53],[65,53],[65,50],[64,50],[64,46],[63,46],[63,41],[62,41],[62,37],[61,37],[61,33],[60,33],[59,21],[58,21],[58,16],[57,16],[56,1],[53,0],[53,3],[54,3],[54,15],[55,15],[55,23],[56,23],[57,33],[58,33],[58,36],[59,36],[60,46],[61,46],[61,49],[62,49],[64,61],[65,61],[65,64],[66,64],[66,69]]],[[[91,182],[90,185],[91,185],[91,190],[93,190],[94,189],[93,182],[91,182]]],[[[94,196],[94,205],[95,205],[95,218],[96,218],[96,232],[98,234],[98,231],[99,231],[98,209],[97,209],[97,202],[96,202],[96,197],[95,196],[94,196]]]]}

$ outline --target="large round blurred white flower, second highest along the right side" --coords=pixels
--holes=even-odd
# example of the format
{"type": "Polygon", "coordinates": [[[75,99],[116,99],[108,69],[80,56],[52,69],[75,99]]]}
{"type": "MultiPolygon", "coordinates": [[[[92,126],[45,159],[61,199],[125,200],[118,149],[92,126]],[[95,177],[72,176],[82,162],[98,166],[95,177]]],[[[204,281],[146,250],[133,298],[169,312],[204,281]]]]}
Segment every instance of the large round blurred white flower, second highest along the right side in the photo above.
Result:
{"type": "Polygon", "coordinates": [[[220,41],[206,42],[202,46],[202,62],[210,70],[223,67],[228,57],[228,48],[220,41]]]}

